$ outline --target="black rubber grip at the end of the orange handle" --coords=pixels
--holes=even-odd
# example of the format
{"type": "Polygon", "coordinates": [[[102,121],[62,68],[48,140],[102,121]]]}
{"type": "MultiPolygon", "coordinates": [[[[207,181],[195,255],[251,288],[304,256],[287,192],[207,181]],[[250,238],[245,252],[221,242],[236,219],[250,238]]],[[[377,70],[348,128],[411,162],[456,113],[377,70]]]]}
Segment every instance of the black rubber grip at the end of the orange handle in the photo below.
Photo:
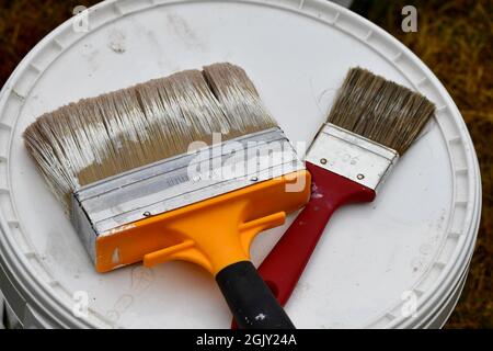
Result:
{"type": "Polygon", "coordinates": [[[226,267],[216,282],[241,329],[295,329],[252,262],[226,267]]]}

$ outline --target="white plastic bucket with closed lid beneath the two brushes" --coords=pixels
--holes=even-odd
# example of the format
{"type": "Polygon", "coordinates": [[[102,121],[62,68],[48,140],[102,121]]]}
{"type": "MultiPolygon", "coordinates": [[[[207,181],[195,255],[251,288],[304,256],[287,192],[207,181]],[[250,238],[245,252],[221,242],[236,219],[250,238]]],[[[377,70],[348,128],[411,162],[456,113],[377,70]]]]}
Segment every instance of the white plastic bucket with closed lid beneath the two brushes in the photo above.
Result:
{"type": "MultiPolygon", "coordinates": [[[[90,10],[88,32],[72,22],[26,56],[0,97],[0,284],[24,327],[228,328],[228,308],[197,267],[95,273],[21,137],[36,116],[65,103],[225,60],[246,69],[294,141],[312,139],[353,66],[436,103],[434,122],[376,202],[334,215],[286,308],[299,328],[445,322],[472,256],[480,174],[459,111],[402,44],[344,8],[312,0],[106,1],[90,10]],[[84,296],[88,316],[76,316],[84,296]]],[[[285,229],[255,240],[255,262],[285,229]]]]}

